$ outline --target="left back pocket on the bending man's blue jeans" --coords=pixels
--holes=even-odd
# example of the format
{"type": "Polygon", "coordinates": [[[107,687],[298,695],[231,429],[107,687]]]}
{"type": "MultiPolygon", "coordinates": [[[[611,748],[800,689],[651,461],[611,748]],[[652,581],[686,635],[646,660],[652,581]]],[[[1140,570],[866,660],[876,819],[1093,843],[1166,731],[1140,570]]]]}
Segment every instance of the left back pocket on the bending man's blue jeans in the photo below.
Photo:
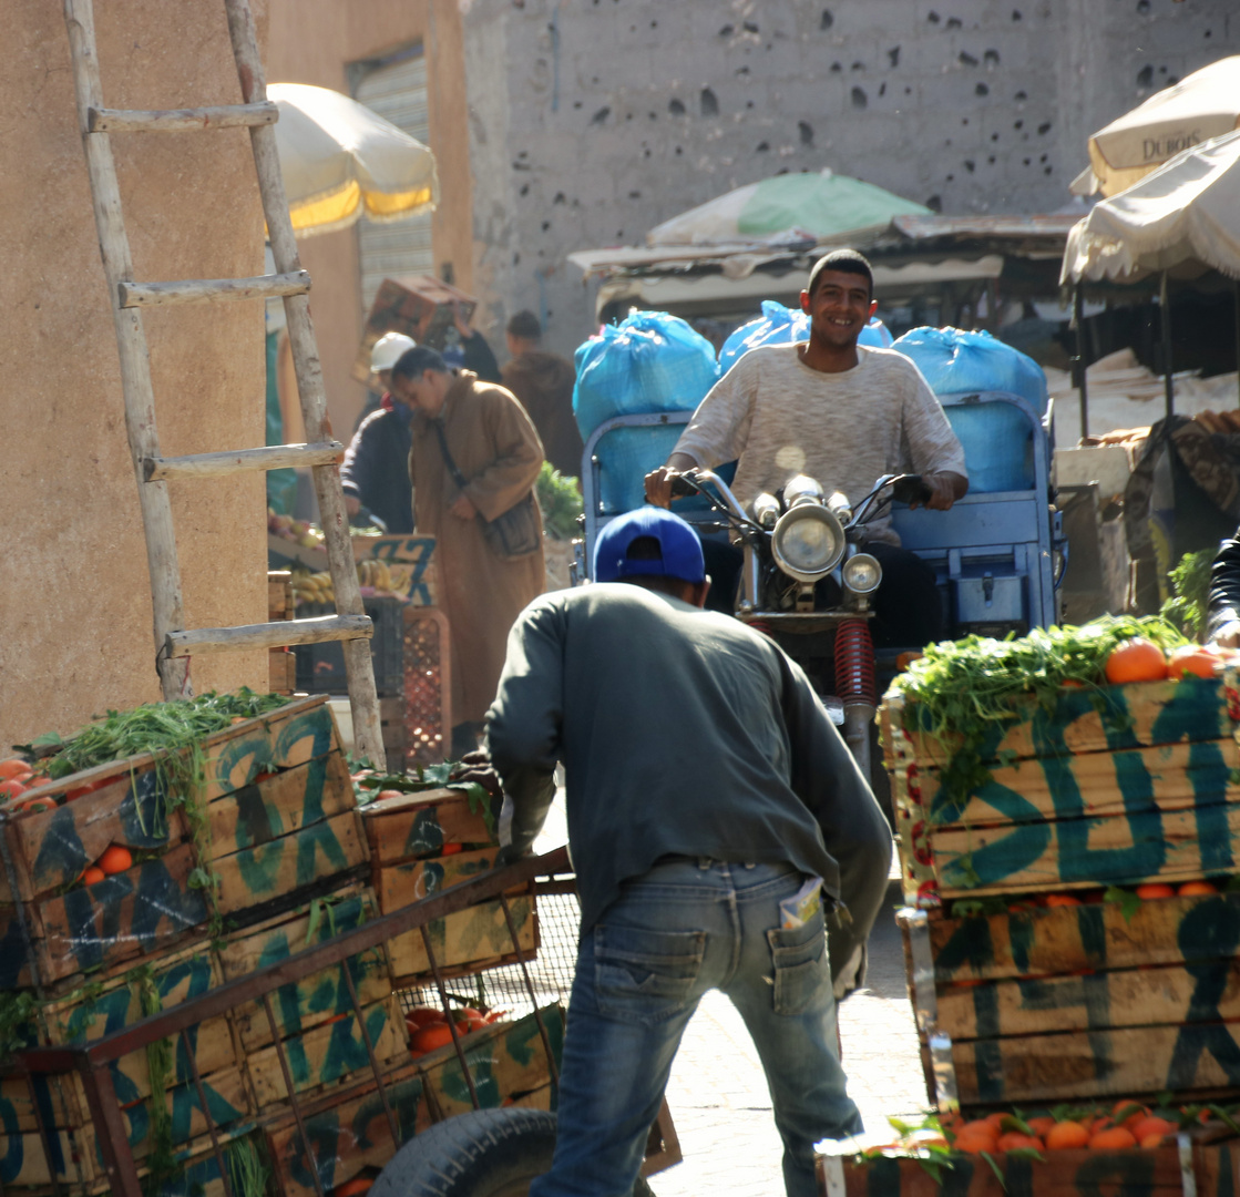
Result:
{"type": "Polygon", "coordinates": [[[688,1001],[706,950],[706,932],[594,928],[594,987],[601,1013],[662,1022],[688,1001]]]}

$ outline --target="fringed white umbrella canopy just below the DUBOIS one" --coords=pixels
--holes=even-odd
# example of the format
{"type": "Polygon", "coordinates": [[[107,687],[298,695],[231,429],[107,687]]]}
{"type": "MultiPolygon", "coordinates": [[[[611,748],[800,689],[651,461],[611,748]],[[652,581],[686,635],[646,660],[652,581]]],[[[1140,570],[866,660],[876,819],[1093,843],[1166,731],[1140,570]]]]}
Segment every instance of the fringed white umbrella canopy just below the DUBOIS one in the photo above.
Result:
{"type": "Polygon", "coordinates": [[[1060,282],[1135,282],[1194,262],[1240,279],[1240,130],[1095,205],[1068,234],[1060,282]]]}

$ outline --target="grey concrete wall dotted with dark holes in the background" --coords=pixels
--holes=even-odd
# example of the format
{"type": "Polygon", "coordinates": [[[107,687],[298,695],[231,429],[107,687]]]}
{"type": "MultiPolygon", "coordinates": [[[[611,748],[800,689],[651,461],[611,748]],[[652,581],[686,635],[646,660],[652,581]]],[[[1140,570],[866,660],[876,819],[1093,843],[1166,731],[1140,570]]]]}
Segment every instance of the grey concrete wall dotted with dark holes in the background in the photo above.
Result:
{"type": "Polygon", "coordinates": [[[593,326],[573,249],[825,166],[946,213],[1053,211],[1091,131],[1240,52],[1235,0],[464,7],[484,330],[541,305],[565,354],[593,326]]]}

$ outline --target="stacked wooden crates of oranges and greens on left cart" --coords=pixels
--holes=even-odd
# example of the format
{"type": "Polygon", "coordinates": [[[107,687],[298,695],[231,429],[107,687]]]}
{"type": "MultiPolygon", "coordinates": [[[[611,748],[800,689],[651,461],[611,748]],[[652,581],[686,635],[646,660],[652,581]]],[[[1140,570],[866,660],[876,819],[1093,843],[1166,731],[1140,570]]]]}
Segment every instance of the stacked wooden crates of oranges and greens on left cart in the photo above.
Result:
{"type": "MultiPolygon", "coordinates": [[[[0,762],[0,803],[11,814],[0,824],[0,1064],[24,1047],[98,1039],[495,862],[494,847],[477,851],[494,843],[480,786],[449,783],[450,767],[412,775],[355,767],[351,775],[322,698],[203,695],[109,712],[19,753],[0,762]],[[424,801],[403,841],[420,874],[388,878],[381,906],[358,876],[371,855],[360,808],[393,798],[424,801]]],[[[510,904],[533,955],[532,898],[510,904]]],[[[446,975],[491,963],[492,906],[432,924],[446,975]]],[[[201,1022],[181,1044],[159,1041],[122,1057],[110,1073],[144,1191],[224,1197],[206,1101],[234,1197],[310,1197],[295,1093],[324,1191],[365,1192],[405,1139],[471,1105],[449,1017],[484,1106],[552,1108],[552,1064],[533,1016],[459,999],[439,1011],[423,999],[407,1017],[389,950],[398,943],[281,986],[274,1026],[250,1001],[201,1022]],[[414,1031],[422,1037],[412,1048],[414,1031]]],[[[558,1056],[563,1011],[541,1013],[558,1056]]],[[[36,1073],[30,1085],[0,1073],[5,1192],[109,1192],[83,1080],[36,1073]]]]}

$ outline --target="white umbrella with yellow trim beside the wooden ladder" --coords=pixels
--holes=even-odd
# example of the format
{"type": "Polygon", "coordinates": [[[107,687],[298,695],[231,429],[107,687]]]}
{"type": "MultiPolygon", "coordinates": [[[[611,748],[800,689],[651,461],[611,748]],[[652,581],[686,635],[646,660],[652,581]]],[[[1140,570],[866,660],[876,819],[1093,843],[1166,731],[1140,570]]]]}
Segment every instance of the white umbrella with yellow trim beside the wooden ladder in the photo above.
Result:
{"type": "Polygon", "coordinates": [[[435,158],[365,104],[325,87],[272,83],[275,141],[298,237],[347,228],[363,213],[401,221],[439,202],[435,158]]]}

